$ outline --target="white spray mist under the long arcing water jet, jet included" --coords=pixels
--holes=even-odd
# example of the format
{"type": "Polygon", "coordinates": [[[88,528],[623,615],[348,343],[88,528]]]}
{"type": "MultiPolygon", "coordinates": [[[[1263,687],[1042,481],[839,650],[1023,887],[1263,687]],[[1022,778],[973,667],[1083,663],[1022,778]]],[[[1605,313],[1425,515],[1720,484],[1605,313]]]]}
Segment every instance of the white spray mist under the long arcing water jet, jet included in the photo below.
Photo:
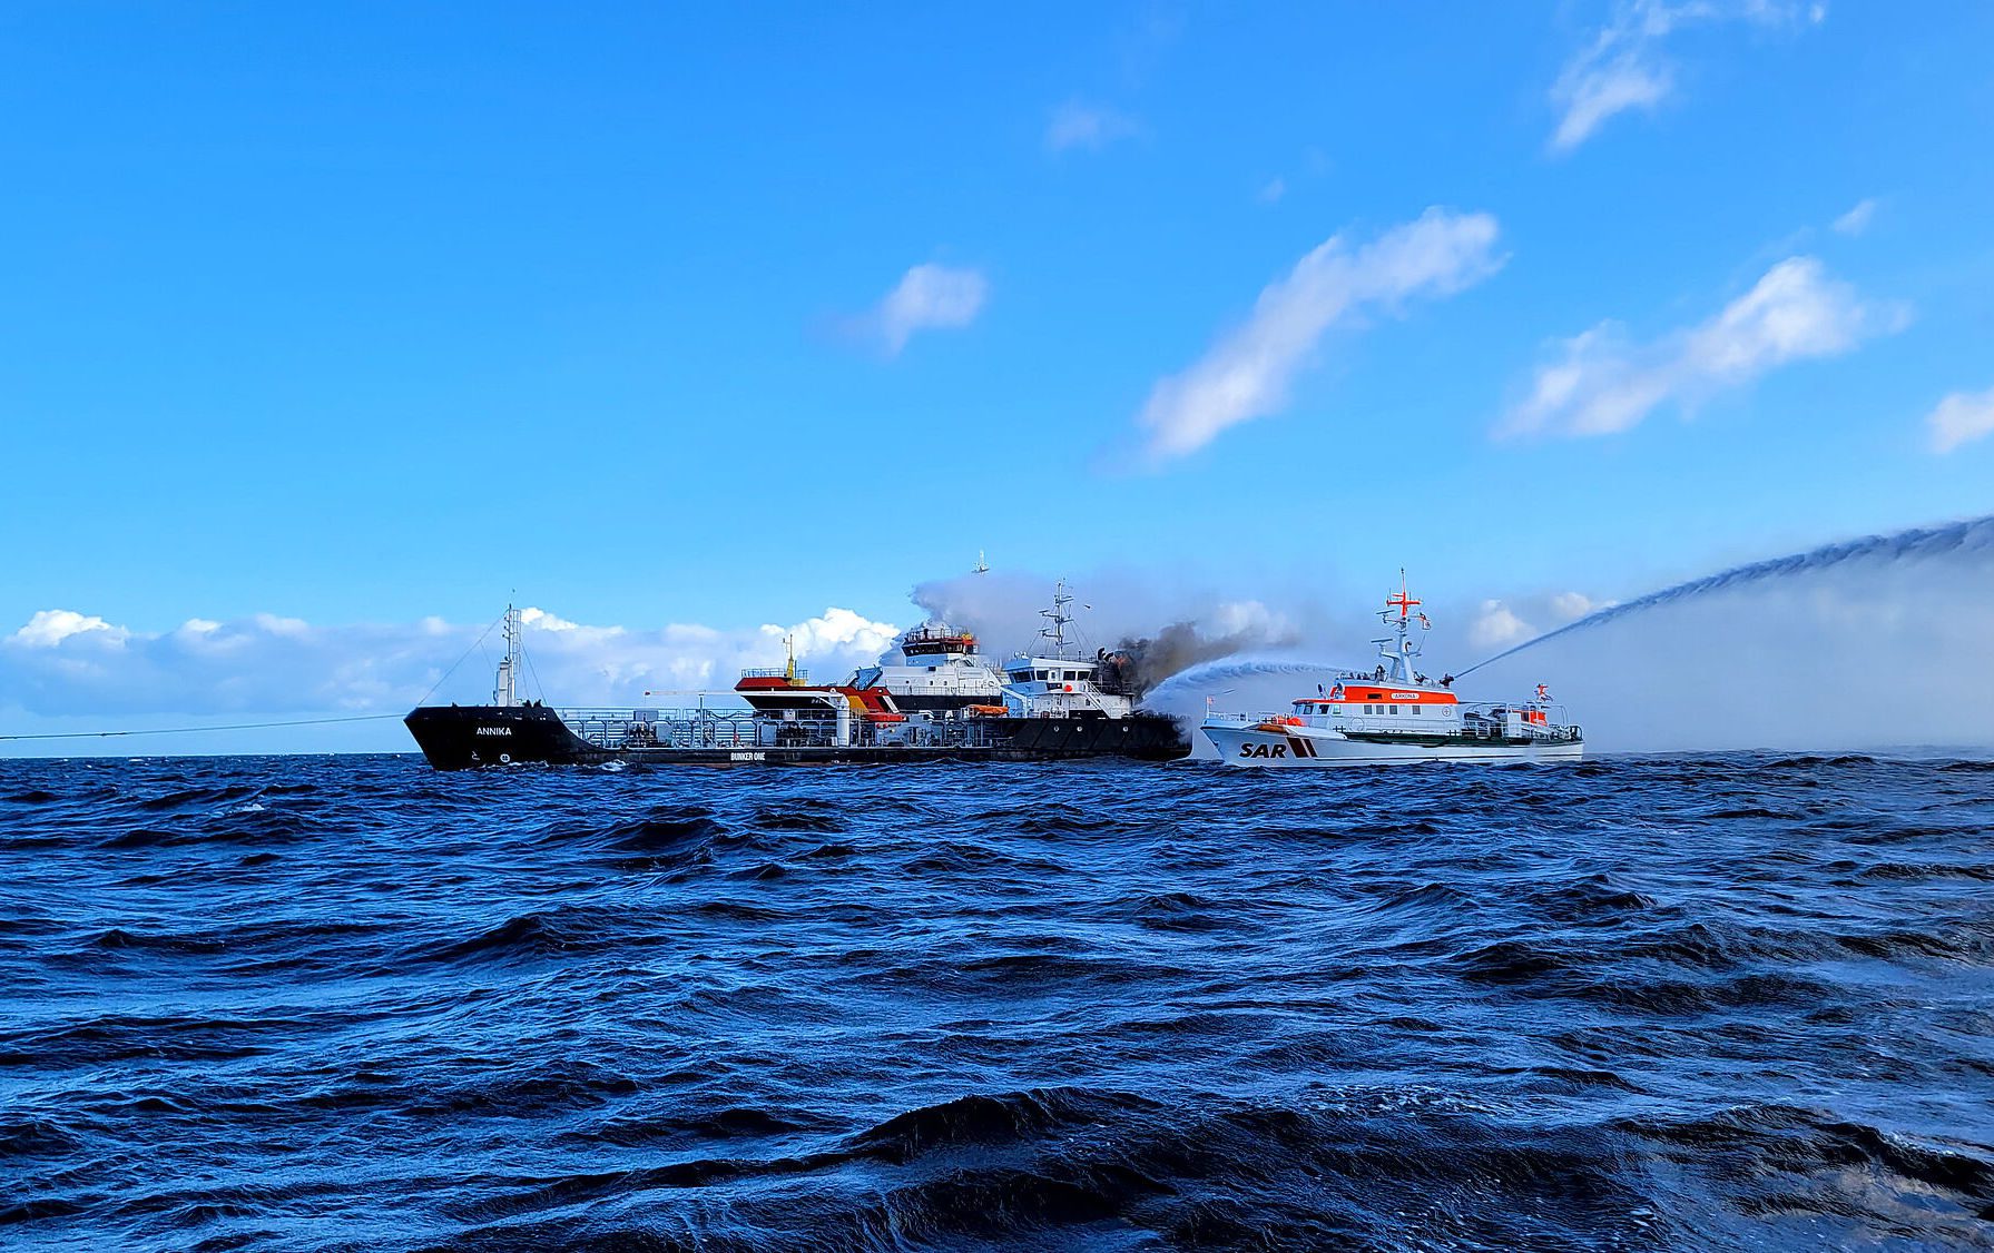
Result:
{"type": "Polygon", "coordinates": [[[1725,570],[1472,669],[1549,683],[1609,751],[1994,745],[1994,516],[1725,570]]]}

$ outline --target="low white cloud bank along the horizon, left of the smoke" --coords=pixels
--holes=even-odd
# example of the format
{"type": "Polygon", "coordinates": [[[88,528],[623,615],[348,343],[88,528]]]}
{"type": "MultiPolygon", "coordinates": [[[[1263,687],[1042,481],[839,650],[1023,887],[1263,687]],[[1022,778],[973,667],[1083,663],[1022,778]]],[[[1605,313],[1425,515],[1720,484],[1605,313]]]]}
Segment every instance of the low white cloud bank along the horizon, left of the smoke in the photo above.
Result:
{"type": "MultiPolygon", "coordinates": [[[[895,627],[831,608],[796,626],[658,629],[586,626],[520,612],[530,695],[562,705],[642,701],[646,689],[732,687],[748,665],[780,665],[784,635],[820,677],[869,665],[895,627]]],[[[437,701],[491,693],[498,633],[435,618],[395,626],[313,626],[259,614],[189,620],[144,633],[70,610],[42,610],[0,635],[4,703],[42,717],[355,711],[397,713],[431,687],[437,701]],[[483,633],[483,643],[479,641],[483,633]],[[467,655],[469,649],[469,655],[467,655]],[[451,665],[465,657],[451,671],[451,665]],[[451,671],[445,679],[445,671],[451,671]]]]}

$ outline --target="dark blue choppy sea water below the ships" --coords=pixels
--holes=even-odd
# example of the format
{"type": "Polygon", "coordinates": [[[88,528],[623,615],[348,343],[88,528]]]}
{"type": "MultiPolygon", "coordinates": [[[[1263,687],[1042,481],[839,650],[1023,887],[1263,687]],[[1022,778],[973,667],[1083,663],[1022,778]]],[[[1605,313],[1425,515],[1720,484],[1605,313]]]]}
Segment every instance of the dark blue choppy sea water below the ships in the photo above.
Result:
{"type": "Polygon", "coordinates": [[[0,763],[0,1247],[1994,1247],[1994,765],[0,763]]]}

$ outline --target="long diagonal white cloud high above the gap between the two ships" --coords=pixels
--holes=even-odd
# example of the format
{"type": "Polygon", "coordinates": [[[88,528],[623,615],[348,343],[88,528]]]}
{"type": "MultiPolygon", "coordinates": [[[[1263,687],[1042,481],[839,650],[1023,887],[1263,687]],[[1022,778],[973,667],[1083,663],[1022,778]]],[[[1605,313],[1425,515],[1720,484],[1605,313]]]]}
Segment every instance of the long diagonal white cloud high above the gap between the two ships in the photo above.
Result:
{"type": "Polygon", "coordinates": [[[1268,283],[1244,325],[1188,371],[1157,382],[1137,416],[1151,460],[1184,456],[1228,426],[1278,410],[1330,327],[1396,313],[1412,297],[1452,295],[1501,263],[1488,213],[1428,209],[1356,249],[1332,235],[1268,283]]]}

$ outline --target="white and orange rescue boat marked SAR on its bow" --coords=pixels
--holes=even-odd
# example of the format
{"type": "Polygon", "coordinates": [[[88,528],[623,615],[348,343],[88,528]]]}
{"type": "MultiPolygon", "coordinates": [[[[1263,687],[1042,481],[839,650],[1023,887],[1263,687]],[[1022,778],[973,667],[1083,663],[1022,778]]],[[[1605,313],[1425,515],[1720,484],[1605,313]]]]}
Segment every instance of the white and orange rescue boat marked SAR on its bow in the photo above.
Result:
{"type": "Polygon", "coordinates": [[[1583,731],[1561,719],[1543,683],[1527,701],[1468,703],[1454,677],[1438,683],[1414,669],[1432,629],[1398,572],[1398,594],[1378,612],[1392,631],[1372,671],[1342,671],[1328,689],[1304,695],[1290,713],[1210,713],[1198,727],[1226,765],[1314,769],[1412,761],[1577,761],[1583,731]]]}

